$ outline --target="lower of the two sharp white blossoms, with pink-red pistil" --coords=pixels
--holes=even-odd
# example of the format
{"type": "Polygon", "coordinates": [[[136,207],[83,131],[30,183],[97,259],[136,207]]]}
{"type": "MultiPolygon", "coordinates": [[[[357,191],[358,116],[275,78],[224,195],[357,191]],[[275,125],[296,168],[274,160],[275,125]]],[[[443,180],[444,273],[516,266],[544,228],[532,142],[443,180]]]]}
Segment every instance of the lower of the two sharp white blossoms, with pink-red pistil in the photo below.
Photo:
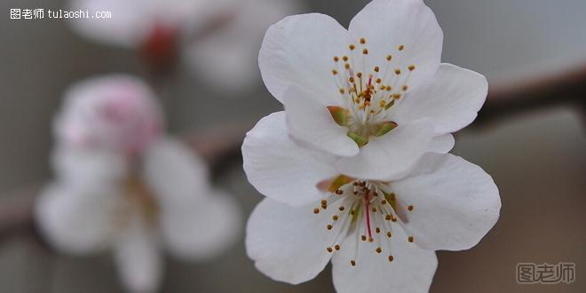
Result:
{"type": "Polygon", "coordinates": [[[331,259],[338,292],[424,292],[434,250],[470,249],[501,208],[493,179],[452,154],[425,154],[393,180],[348,176],[334,155],[291,140],[284,112],[249,131],[242,155],[267,197],[249,218],[246,249],[276,281],[311,280],[331,259]]]}

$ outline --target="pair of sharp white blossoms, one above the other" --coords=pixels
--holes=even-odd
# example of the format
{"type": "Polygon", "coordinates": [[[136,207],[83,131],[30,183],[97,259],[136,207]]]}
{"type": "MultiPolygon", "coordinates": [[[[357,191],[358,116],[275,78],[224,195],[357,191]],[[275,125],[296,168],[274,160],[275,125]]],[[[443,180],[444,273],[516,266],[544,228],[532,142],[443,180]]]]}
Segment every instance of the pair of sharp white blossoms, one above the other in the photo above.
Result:
{"type": "Polygon", "coordinates": [[[339,292],[420,292],[434,251],[470,249],[501,208],[493,179],[447,154],[487,80],[440,62],[443,34],[422,0],[374,0],[348,29],[290,16],[268,29],[258,63],[284,111],[242,146],[267,198],[246,246],[277,281],[313,279],[331,260],[339,292]]]}

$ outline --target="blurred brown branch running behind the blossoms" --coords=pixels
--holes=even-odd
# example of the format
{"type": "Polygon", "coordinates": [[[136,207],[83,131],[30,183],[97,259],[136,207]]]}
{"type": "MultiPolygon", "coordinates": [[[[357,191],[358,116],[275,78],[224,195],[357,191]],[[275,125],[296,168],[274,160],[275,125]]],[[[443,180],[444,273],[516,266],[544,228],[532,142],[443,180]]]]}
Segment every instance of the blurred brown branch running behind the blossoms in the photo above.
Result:
{"type": "MultiPolygon", "coordinates": [[[[487,103],[475,125],[500,122],[503,118],[540,107],[577,105],[584,107],[586,66],[575,67],[561,75],[544,75],[520,83],[496,84],[488,93],[487,103]]],[[[233,123],[194,131],[184,136],[210,165],[212,178],[226,167],[240,162],[240,147],[251,123],[233,123]]],[[[41,184],[31,185],[0,197],[0,240],[19,231],[33,231],[33,209],[41,184]]]]}

